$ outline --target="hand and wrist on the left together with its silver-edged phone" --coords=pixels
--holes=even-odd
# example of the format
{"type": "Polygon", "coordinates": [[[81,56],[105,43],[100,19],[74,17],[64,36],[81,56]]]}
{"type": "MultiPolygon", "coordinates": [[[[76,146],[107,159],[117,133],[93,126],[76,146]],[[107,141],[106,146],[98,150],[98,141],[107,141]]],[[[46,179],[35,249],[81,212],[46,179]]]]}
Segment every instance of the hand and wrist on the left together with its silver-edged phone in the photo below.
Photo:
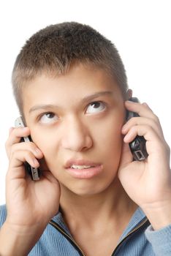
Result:
{"type": "MultiPolygon", "coordinates": [[[[15,126],[23,127],[23,120],[18,118],[15,126]]],[[[35,143],[29,142],[29,134],[28,128],[10,129],[6,142],[9,158],[6,175],[7,217],[0,235],[0,247],[3,248],[4,243],[7,244],[5,255],[28,255],[59,207],[60,185],[47,167],[42,170],[39,182],[32,182],[31,178],[26,176],[23,162],[28,161],[30,165],[34,165],[34,160],[43,157],[42,151],[37,151],[39,148],[35,143]],[[21,138],[27,143],[20,143],[21,138]]],[[[34,170],[35,168],[32,168],[31,176],[37,180],[34,170]]]]}

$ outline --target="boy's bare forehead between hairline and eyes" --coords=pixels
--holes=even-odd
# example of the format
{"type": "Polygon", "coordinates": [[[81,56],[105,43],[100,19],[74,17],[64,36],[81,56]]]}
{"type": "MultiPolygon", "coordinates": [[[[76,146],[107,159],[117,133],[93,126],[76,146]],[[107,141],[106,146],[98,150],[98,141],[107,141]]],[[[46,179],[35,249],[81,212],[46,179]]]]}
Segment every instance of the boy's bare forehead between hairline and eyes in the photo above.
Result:
{"type": "Polygon", "coordinates": [[[57,102],[76,104],[80,98],[99,91],[113,91],[116,96],[121,94],[115,79],[103,69],[80,64],[69,69],[65,75],[37,75],[24,86],[23,108],[57,102]]]}

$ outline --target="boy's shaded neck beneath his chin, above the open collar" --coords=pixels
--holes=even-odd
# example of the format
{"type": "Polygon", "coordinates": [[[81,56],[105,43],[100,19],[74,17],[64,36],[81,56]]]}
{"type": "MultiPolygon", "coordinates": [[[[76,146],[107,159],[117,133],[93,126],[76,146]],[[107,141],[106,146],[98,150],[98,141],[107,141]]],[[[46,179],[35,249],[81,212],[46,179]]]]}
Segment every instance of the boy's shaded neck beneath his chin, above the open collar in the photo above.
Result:
{"type": "Polygon", "coordinates": [[[130,219],[137,205],[126,195],[118,178],[103,192],[96,195],[79,196],[61,185],[61,211],[65,222],[95,225],[109,219],[121,222],[130,219]]]}

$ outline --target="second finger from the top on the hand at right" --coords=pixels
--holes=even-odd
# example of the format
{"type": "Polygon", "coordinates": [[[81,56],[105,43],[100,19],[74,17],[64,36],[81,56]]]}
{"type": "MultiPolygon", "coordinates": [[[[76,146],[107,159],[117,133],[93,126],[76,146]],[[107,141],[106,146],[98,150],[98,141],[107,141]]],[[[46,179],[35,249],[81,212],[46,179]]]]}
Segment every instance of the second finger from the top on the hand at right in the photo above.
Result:
{"type": "Polygon", "coordinates": [[[123,135],[125,135],[133,126],[141,124],[148,124],[149,127],[152,127],[156,131],[159,137],[162,136],[164,138],[160,124],[156,123],[152,118],[146,117],[133,117],[129,119],[129,121],[127,121],[122,127],[123,135]]]}

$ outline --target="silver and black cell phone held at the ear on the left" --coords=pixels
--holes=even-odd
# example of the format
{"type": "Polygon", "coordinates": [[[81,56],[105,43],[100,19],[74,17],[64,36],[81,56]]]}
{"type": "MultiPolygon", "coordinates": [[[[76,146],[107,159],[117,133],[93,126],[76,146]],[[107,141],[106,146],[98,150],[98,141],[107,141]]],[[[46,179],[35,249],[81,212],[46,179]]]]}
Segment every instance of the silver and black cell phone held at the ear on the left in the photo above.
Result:
{"type": "MultiPolygon", "coordinates": [[[[23,119],[22,119],[21,116],[19,116],[15,120],[15,127],[25,127],[23,119]]],[[[32,140],[31,140],[31,137],[29,136],[29,137],[23,137],[21,139],[21,141],[29,142],[29,141],[32,141],[32,140]]],[[[32,180],[33,181],[39,181],[39,175],[40,175],[39,168],[32,167],[31,165],[28,164],[28,162],[24,162],[24,165],[26,167],[26,171],[31,176],[32,180]]]]}

